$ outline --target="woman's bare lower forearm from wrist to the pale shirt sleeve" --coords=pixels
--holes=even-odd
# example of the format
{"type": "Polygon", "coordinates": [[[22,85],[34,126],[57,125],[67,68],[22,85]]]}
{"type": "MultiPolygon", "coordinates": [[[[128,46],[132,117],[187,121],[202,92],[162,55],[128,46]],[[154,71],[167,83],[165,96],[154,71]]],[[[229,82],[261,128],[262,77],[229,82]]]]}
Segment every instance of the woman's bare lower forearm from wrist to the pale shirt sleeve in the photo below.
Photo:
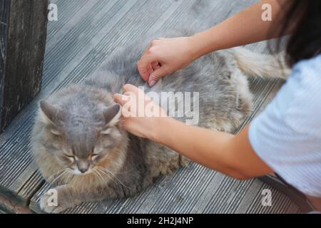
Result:
{"type": "Polygon", "coordinates": [[[238,179],[272,172],[260,160],[248,140],[248,128],[238,135],[185,125],[172,118],[161,118],[153,138],[200,165],[238,179]]]}

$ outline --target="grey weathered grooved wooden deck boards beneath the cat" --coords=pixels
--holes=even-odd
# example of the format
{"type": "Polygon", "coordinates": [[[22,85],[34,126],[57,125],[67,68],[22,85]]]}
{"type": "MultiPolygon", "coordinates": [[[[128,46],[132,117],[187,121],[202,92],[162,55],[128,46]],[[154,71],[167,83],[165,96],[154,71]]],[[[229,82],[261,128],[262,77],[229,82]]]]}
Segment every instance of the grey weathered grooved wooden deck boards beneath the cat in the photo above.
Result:
{"type": "MultiPolygon", "coordinates": [[[[210,27],[244,9],[255,0],[54,0],[58,21],[49,22],[43,89],[9,128],[0,135],[0,194],[10,202],[40,212],[44,180],[31,160],[30,132],[39,100],[96,71],[117,46],[188,24],[198,30],[210,27]],[[195,4],[196,3],[196,4],[195,4]],[[190,14],[199,7],[200,14],[190,14]],[[203,7],[203,9],[202,9],[203,7]]],[[[265,52],[265,43],[249,46],[265,52]]],[[[282,86],[280,81],[251,81],[255,93],[253,115],[262,110],[282,86]]],[[[192,164],[173,175],[160,177],[141,195],[101,203],[82,204],[70,213],[296,213],[298,207],[272,190],[272,207],[261,204],[260,180],[238,181],[192,164]]],[[[6,209],[1,205],[0,213],[6,209]]]]}

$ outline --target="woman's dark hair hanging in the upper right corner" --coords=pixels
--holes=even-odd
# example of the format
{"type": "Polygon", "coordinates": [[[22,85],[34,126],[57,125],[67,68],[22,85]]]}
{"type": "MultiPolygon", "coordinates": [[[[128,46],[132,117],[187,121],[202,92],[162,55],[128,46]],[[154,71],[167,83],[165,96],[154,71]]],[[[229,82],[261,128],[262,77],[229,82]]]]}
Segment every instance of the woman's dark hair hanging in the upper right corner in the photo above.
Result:
{"type": "Polygon", "coordinates": [[[298,61],[317,56],[321,51],[321,1],[285,2],[287,6],[284,6],[286,12],[282,17],[280,33],[284,35],[288,29],[292,31],[286,51],[287,63],[293,66],[298,61]]]}

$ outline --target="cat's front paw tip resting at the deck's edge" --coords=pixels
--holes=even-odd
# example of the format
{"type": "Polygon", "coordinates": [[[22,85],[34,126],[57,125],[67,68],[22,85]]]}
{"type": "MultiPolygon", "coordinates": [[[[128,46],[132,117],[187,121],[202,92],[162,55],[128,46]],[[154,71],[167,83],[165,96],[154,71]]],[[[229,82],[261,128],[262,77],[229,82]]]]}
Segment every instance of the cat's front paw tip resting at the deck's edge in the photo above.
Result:
{"type": "Polygon", "coordinates": [[[52,192],[47,192],[41,197],[40,208],[43,212],[50,213],[50,214],[58,214],[68,209],[66,205],[61,203],[62,202],[61,200],[58,200],[58,198],[55,198],[55,197],[58,197],[58,194],[55,195],[55,194],[52,194],[52,192]]]}

